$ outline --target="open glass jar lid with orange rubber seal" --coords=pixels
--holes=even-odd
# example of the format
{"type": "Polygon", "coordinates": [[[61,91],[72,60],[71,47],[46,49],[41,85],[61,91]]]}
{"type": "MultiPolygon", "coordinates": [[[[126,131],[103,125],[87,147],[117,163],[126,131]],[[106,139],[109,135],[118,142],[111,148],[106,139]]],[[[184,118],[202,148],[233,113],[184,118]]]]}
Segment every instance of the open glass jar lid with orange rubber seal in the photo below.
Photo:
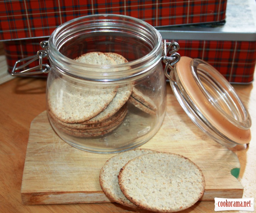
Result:
{"type": "Polygon", "coordinates": [[[181,57],[168,77],[184,111],[210,138],[228,147],[249,143],[249,112],[214,67],[201,59],[181,57]]]}

